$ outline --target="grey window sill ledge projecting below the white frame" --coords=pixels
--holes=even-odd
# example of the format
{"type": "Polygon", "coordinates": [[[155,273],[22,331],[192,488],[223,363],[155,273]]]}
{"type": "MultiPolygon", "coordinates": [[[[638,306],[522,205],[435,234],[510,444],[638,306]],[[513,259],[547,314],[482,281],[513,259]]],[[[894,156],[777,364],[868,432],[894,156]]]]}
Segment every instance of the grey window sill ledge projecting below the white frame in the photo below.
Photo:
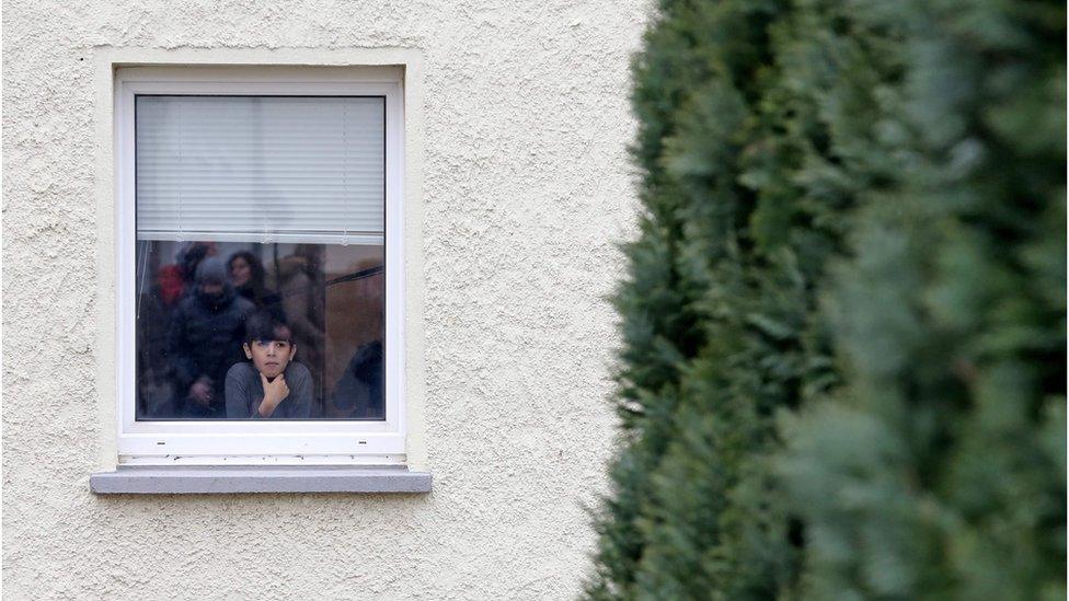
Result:
{"type": "Polygon", "coordinates": [[[97,495],[429,493],[430,474],[403,465],[119,465],[89,478],[97,495]]]}

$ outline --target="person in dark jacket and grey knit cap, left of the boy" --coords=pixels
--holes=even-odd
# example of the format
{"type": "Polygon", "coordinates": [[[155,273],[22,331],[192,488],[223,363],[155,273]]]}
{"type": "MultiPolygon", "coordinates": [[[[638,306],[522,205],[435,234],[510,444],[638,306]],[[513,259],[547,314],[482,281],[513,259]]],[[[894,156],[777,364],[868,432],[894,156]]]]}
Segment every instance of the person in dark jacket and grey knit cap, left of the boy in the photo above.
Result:
{"type": "Polygon", "coordinates": [[[226,417],[222,384],[230,366],[241,360],[245,317],[254,309],[234,293],[221,258],[199,262],[193,292],[179,302],[168,334],[180,391],[175,417],[226,417]]]}

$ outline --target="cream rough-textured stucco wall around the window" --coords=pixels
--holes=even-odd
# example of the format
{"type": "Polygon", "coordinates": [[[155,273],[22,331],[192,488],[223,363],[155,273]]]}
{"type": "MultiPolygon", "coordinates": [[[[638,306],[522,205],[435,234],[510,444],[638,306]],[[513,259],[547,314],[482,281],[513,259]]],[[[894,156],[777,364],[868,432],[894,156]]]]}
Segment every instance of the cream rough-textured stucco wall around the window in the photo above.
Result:
{"type": "Polygon", "coordinates": [[[8,598],[573,597],[611,452],[604,297],[633,227],[645,15],[637,0],[4,2],[8,598]],[[434,493],[91,495],[112,452],[102,53],[347,47],[423,61],[411,343],[434,493]]]}

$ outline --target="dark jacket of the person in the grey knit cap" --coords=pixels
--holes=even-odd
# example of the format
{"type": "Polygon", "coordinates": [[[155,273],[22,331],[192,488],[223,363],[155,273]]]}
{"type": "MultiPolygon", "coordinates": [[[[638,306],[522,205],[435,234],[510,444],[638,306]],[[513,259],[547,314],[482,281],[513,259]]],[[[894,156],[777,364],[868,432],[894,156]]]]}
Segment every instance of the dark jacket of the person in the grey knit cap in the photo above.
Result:
{"type": "Polygon", "coordinates": [[[177,393],[176,417],[226,417],[227,370],[245,359],[241,343],[245,317],[253,310],[253,303],[238,297],[230,286],[215,301],[194,290],[179,302],[168,334],[177,393]],[[208,408],[187,397],[189,386],[202,377],[210,379],[215,389],[208,408]]]}

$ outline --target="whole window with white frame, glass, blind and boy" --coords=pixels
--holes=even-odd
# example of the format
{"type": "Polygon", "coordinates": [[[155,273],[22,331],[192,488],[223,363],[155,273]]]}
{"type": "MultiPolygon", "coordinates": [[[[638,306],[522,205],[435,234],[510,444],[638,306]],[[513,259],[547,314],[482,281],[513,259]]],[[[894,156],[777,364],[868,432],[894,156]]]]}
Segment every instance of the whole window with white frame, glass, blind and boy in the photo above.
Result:
{"type": "Polygon", "coordinates": [[[400,461],[401,77],[116,73],[127,463],[400,461]]]}

